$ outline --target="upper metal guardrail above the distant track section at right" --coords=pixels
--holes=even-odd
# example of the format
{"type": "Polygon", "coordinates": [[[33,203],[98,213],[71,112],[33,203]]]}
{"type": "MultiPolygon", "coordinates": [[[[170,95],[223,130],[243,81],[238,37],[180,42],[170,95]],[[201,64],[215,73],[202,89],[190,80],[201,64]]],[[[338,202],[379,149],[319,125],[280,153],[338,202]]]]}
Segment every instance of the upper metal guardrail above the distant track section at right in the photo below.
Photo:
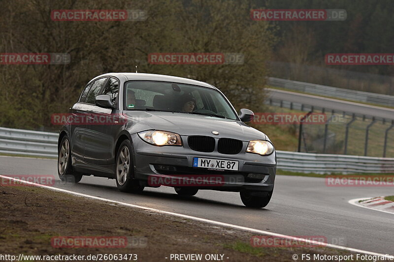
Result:
{"type": "Polygon", "coordinates": [[[274,77],[267,78],[267,85],[316,95],[331,96],[364,103],[394,107],[394,96],[392,95],[356,91],[339,87],[328,87],[274,77]]]}

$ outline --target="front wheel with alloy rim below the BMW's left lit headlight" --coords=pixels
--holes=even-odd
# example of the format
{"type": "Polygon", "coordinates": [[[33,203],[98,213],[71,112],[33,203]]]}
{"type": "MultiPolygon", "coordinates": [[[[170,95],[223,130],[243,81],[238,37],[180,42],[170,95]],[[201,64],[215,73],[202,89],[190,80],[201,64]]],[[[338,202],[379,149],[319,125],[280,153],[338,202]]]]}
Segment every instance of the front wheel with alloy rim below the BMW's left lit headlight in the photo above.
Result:
{"type": "Polygon", "coordinates": [[[121,192],[140,193],[144,190],[144,187],[134,178],[133,149],[130,141],[125,140],[120,144],[116,153],[115,180],[121,192]]]}

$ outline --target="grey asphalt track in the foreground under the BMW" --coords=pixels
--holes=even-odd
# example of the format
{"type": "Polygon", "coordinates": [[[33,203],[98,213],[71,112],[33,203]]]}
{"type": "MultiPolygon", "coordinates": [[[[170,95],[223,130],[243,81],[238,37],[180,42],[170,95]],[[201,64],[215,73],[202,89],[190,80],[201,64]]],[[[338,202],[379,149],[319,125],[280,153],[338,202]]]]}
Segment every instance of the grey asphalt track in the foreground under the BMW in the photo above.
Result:
{"type": "Polygon", "coordinates": [[[328,243],[394,254],[394,215],[348,204],[355,198],[392,195],[390,187],[327,187],[324,178],[279,175],[265,209],[249,209],[238,193],[199,191],[181,198],[172,188],[121,193],[115,180],[84,176],[75,185],[57,175],[57,161],[0,156],[1,175],[55,175],[56,187],[210,220],[293,236],[326,236],[328,243]]]}

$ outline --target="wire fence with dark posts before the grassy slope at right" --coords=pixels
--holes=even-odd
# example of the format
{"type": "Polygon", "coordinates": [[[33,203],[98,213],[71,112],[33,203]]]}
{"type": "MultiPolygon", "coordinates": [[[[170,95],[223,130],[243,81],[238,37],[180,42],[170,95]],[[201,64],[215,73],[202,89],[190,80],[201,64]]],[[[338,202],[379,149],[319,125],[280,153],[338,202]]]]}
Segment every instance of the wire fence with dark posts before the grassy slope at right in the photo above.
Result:
{"type": "Polygon", "coordinates": [[[287,124],[280,128],[298,137],[298,152],[394,157],[394,120],[268,99],[274,112],[325,114],[320,124],[287,124]],[[281,109],[278,109],[281,108],[281,109]]]}

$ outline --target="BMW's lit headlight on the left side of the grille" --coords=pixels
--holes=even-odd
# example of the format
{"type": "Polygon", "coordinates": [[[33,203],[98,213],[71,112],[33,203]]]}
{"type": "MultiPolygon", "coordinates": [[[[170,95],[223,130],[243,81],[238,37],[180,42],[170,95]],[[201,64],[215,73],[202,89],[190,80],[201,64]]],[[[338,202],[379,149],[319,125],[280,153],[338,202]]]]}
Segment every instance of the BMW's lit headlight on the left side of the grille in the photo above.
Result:
{"type": "Polygon", "coordinates": [[[149,130],[139,132],[138,136],[155,146],[182,146],[181,137],[172,132],[149,130]]]}

